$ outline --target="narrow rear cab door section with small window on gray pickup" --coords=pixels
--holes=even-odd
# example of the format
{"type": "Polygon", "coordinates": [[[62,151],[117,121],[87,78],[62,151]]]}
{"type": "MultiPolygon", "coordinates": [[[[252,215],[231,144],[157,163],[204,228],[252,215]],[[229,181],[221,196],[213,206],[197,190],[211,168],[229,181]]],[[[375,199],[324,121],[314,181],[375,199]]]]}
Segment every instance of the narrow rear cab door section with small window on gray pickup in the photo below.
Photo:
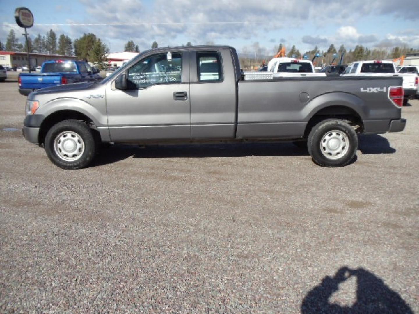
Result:
{"type": "Polygon", "coordinates": [[[190,51],[191,138],[233,139],[237,83],[230,49],[190,51]]]}

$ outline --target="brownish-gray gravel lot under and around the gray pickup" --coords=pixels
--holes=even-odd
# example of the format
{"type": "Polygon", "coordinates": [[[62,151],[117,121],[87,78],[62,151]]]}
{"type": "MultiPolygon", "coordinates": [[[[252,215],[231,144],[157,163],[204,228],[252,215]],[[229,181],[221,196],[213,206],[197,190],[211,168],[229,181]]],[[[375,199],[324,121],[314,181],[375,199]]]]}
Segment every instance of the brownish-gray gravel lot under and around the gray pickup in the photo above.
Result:
{"type": "Polygon", "coordinates": [[[419,313],[418,100],[344,168],[283,143],[61,170],[23,139],[25,99],[0,83],[0,312],[419,313]]]}

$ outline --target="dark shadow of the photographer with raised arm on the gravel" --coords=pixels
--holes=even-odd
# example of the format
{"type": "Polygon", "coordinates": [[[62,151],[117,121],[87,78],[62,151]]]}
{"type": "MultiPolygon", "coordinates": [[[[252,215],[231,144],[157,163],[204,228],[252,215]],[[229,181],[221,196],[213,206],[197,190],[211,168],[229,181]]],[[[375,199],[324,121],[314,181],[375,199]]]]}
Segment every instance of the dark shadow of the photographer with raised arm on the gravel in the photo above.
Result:
{"type": "Polygon", "coordinates": [[[314,287],[305,296],[301,304],[301,313],[365,313],[365,314],[413,314],[412,309],[391,290],[382,279],[363,268],[340,268],[333,278],[323,278],[320,285],[314,287]],[[329,302],[332,294],[339,290],[339,284],[350,277],[357,279],[357,299],[352,306],[341,306],[329,302]]]}

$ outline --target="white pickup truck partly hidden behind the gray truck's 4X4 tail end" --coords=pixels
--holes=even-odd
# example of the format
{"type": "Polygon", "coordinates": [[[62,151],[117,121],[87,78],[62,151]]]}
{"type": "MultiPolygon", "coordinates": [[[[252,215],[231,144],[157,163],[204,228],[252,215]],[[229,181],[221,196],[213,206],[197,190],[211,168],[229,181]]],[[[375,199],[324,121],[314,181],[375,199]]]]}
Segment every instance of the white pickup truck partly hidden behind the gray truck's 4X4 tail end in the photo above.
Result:
{"type": "Polygon", "coordinates": [[[418,76],[411,73],[397,73],[396,66],[391,60],[356,61],[349,64],[341,76],[401,76],[404,90],[403,105],[416,95],[418,89],[418,76]]]}

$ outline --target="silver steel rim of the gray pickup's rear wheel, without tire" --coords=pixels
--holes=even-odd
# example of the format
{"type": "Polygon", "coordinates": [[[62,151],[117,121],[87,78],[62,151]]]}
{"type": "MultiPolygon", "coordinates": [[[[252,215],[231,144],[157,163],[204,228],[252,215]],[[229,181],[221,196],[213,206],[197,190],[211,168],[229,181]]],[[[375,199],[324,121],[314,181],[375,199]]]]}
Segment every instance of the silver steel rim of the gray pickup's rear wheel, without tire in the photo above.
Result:
{"type": "Polygon", "coordinates": [[[328,159],[339,159],[349,150],[349,137],[342,131],[327,132],[320,141],[320,150],[328,159]]]}

